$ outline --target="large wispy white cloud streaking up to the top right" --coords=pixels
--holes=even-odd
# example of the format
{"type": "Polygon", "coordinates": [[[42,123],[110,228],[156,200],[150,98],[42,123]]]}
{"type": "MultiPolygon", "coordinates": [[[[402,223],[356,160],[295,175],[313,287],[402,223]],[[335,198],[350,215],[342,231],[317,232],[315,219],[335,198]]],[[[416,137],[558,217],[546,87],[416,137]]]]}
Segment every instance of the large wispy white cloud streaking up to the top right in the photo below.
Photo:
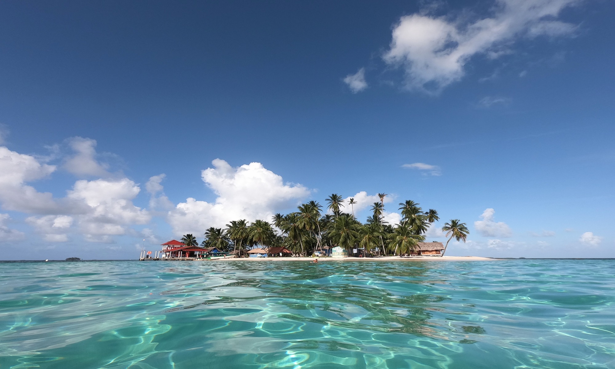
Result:
{"type": "Polygon", "coordinates": [[[437,93],[464,76],[474,55],[498,58],[509,54],[511,42],[536,36],[571,34],[576,26],[557,20],[561,10],[580,0],[496,0],[491,16],[467,21],[412,14],[400,18],[392,31],[384,61],[405,71],[408,89],[437,93]]]}

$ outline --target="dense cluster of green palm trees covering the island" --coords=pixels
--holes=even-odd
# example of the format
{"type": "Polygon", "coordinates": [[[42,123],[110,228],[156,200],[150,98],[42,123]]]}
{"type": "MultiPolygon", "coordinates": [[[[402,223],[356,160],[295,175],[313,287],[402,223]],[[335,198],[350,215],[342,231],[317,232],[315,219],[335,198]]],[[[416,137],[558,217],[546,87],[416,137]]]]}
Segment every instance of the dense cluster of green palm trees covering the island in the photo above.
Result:
{"type": "MultiPolygon", "coordinates": [[[[438,221],[438,212],[434,209],[423,211],[412,200],[401,202],[399,210],[402,219],[399,224],[389,224],[383,219],[384,199],[387,194],[378,194],[379,202],[371,205],[371,215],[365,223],[354,216],[354,198],[348,200],[351,213],[344,213],[344,200],[338,194],[327,197],[327,210],[323,213],[322,205],[310,201],[297,207],[296,212],[273,216],[271,223],[255,220],[234,220],[226,228],[211,227],[205,231],[203,247],[216,247],[223,252],[239,251],[249,248],[285,247],[295,255],[312,255],[323,247],[339,246],[346,250],[362,248],[366,253],[378,255],[403,255],[416,250],[418,242],[425,239],[425,232],[431,224],[438,221]]],[[[443,226],[448,242],[466,241],[469,231],[466,223],[453,219],[443,226]]],[[[187,246],[198,245],[192,234],[186,234],[181,242],[187,246]]],[[[444,252],[446,252],[446,247],[444,252]]],[[[442,255],[444,254],[442,253],[442,255]]]]}

